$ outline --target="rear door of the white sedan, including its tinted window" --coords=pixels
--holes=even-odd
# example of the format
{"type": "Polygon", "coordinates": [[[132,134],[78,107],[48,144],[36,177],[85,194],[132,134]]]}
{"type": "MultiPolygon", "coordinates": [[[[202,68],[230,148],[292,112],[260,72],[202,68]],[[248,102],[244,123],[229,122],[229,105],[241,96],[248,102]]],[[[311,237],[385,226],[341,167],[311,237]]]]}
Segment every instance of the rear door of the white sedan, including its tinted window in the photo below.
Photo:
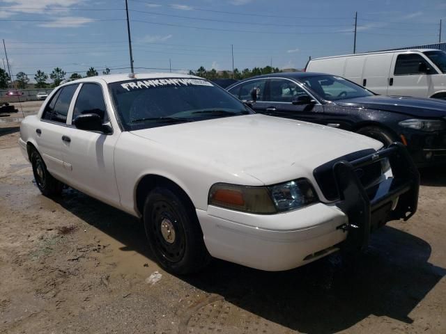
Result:
{"type": "Polygon", "coordinates": [[[78,85],[63,86],[45,106],[36,129],[36,142],[45,165],[59,180],[63,179],[62,142],[70,102],[78,85]]]}

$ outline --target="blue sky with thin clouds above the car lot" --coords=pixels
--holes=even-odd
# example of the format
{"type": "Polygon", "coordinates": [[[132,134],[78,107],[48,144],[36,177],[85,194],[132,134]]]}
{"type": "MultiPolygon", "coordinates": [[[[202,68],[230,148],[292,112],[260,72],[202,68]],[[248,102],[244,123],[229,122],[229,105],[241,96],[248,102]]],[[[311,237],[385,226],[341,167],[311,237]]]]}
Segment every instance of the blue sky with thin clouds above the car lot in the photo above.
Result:
{"type": "MultiPolygon", "coordinates": [[[[305,67],[309,56],[446,41],[445,0],[128,0],[135,72],[305,67]],[[142,68],[145,67],[145,68],[142,68]]],[[[125,0],[0,0],[13,74],[130,72],[125,0]]],[[[3,47],[3,45],[1,45],[3,47]]],[[[1,58],[5,58],[3,49],[1,58]]],[[[3,63],[0,63],[3,67],[3,63]]]]}

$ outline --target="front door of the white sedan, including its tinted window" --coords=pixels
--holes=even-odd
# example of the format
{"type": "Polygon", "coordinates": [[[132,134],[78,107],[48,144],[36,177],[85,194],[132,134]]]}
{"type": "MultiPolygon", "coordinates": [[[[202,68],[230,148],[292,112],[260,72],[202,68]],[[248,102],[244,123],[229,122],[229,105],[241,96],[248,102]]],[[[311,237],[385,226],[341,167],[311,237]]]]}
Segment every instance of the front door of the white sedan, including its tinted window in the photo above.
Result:
{"type": "MultiPolygon", "coordinates": [[[[102,86],[84,83],[73,98],[69,125],[63,134],[63,162],[66,164],[68,184],[111,205],[118,205],[119,194],[114,173],[114,147],[120,134],[77,129],[72,120],[86,113],[98,113],[104,124],[109,124],[109,110],[102,86]]],[[[109,124],[110,125],[110,124],[109,124]]]]}

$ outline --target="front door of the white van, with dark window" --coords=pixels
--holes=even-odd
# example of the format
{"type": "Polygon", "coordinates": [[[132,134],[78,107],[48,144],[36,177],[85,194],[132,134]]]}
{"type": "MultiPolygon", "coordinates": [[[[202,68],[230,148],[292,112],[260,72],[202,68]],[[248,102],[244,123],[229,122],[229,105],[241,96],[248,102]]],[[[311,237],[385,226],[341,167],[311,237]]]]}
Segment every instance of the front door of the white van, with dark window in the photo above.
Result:
{"type": "Polygon", "coordinates": [[[392,68],[387,95],[429,97],[430,90],[433,93],[431,74],[437,71],[421,54],[395,55],[392,68]]]}

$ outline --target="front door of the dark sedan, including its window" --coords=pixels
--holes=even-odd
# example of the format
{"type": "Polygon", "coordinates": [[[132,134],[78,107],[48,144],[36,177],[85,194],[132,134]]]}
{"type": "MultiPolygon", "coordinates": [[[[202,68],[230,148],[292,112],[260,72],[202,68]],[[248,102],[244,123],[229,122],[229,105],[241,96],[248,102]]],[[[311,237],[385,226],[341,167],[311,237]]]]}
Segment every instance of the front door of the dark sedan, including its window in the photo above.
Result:
{"type": "MultiPolygon", "coordinates": [[[[293,101],[299,97],[313,96],[304,90],[295,81],[286,78],[268,79],[266,91],[265,114],[295,120],[305,120],[307,122],[321,122],[321,105],[316,102],[313,104],[293,104],[293,101]]],[[[316,101],[316,100],[315,100],[316,101]]]]}

